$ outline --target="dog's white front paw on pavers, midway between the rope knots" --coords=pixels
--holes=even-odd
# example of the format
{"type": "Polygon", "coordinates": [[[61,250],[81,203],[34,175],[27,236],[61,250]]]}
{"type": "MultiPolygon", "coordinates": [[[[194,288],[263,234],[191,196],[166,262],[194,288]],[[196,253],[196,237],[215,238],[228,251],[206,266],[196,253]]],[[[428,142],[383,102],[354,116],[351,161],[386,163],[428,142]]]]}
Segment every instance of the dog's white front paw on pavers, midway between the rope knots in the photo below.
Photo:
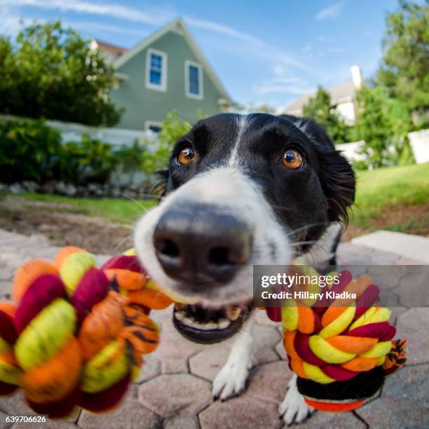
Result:
{"type": "Polygon", "coordinates": [[[242,359],[229,359],[213,381],[213,397],[226,400],[242,393],[251,368],[250,355],[242,359]]]}

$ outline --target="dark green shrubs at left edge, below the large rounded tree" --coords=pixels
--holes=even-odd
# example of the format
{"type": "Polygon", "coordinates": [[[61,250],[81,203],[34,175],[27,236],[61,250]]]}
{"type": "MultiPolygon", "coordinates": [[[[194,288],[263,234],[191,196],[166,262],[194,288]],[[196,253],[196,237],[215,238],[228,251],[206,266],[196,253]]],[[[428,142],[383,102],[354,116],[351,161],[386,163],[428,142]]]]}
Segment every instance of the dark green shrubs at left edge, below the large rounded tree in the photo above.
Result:
{"type": "Polygon", "coordinates": [[[125,154],[88,135],[62,144],[60,133],[43,121],[0,121],[0,182],[106,183],[125,154]]]}

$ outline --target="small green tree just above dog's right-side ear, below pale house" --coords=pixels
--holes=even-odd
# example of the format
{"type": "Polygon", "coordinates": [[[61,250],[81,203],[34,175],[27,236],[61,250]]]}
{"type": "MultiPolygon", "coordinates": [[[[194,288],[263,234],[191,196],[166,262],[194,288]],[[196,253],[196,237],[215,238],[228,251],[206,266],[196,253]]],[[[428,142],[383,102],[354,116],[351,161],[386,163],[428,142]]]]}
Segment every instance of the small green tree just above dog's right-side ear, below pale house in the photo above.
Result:
{"type": "Polygon", "coordinates": [[[348,127],[336,111],[336,106],[332,105],[331,95],[321,86],[318,87],[315,97],[304,104],[302,113],[322,125],[334,142],[348,141],[348,127]]]}

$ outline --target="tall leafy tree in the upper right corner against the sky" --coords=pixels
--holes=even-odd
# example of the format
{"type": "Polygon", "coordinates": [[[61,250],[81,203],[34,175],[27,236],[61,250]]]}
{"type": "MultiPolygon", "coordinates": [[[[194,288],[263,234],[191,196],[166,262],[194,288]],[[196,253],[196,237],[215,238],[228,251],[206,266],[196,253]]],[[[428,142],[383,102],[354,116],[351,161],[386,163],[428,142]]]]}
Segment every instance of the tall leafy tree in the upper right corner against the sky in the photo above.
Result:
{"type": "Polygon", "coordinates": [[[390,97],[401,100],[421,127],[428,125],[429,109],[429,6],[400,1],[400,9],[386,18],[383,62],[376,83],[390,97]]]}

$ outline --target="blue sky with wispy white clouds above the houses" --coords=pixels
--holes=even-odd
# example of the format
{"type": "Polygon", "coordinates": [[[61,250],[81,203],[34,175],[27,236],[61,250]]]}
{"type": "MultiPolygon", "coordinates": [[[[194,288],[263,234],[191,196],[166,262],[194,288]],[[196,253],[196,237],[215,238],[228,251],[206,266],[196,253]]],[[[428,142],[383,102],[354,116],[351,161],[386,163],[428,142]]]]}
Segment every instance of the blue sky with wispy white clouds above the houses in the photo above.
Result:
{"type": "Polygon", "coordinates": [[[318,84],[349,81],[353,64],[371,77],[396,9],[397,0],[0,0],[0,33],[60,19],[131,48],[182,15],[234,100],[282,107],[318,84]]]}

